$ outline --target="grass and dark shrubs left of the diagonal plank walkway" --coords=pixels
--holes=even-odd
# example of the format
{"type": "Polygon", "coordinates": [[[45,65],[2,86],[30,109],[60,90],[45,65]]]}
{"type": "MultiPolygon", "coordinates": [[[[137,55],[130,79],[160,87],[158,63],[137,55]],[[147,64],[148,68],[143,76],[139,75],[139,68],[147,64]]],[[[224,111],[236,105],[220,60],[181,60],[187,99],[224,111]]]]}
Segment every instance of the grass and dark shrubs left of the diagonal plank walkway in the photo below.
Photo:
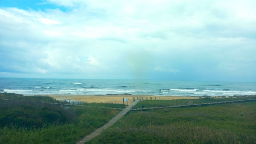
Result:
{"type": "Polygon", "coordinates": [[[53,100],[50,97],[6,97],[0,97],[0,143],[75,143],[119,113],[114,109],[42,103],[53,100]],[[6,97],[15,100],[3,100],[6,97]]]}

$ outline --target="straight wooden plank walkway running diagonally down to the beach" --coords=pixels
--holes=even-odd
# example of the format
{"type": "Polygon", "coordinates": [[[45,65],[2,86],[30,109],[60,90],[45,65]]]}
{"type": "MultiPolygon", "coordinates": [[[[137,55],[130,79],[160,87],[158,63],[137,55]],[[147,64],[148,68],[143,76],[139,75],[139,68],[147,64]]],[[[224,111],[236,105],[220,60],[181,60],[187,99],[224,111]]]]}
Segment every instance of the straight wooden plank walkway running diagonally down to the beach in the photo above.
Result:
{"type": "MultiPolygon", "coordinates": [[[[139,102],[139,100],[135,100],[131,105],[136,105],[139,102]]],[[[114,118],[112,118],[110,121],[108,121],[108,123],[106,123],[104,126],[96,129],[94,132],[92,132],[91,134],[85,136],[83,139],[81,139],[80,141],[76,142],[76,144],[83,144],[84,142],[87,142],[95,137],[97,137],[98,135],[101,134],[101,132],[103,132],[103,130],[107,129],[108,127],[114,125],[120,118],[122,118],[125,114],[127,114],[129,111],[131,110],[130,107],[126,107],[125,109],[123,109],[120,113],[118,113],[114,118]]]]}

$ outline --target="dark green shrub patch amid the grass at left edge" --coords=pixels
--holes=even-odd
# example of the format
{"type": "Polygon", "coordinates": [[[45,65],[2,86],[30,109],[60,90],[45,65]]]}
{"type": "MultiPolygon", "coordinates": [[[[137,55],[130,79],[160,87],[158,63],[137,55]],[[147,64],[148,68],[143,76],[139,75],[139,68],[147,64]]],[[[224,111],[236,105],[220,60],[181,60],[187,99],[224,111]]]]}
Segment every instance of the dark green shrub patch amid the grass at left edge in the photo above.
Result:
{"type": "Polygon", "coordinates": [[[1,127],[41,128],[44,124],[69,123],[76,118],[72,109],[29,101],[0,100],[0,114],[1,127]]]}

